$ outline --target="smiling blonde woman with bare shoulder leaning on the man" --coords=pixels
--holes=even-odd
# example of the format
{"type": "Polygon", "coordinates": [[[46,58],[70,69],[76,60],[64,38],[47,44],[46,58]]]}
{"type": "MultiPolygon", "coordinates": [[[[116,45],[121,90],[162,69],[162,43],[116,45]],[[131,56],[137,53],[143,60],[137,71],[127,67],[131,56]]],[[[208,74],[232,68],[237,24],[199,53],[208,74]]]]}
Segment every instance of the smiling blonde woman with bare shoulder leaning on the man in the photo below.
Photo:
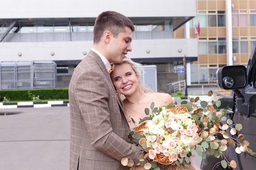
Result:
{"type": "MultiPolygon", "coordinates": [[[[166,106],[173,103],[173,98],[167,93],[150,92],[140,84],[139,76],[143,67],[129,58],[124,58],[124,63],[115,64],[115,69],[110,74],[112,82],[119,94],[124,95],[124,114],[128,121],[130,131],[139,124],[140,118],[144,118],[145,108],[150,108],[152,102],[155,106],[166,106]],[[135,121],[133,123],[132,119],[135,121]]],[[[189,170],[200,170],[190,158],[189,170]]],[[[184,170],[182,167],[168,166],[161,167],[161,170],[184,170]]],[[[145,170],[143,166],[135,166],[132,170],[145,170]]]]}

